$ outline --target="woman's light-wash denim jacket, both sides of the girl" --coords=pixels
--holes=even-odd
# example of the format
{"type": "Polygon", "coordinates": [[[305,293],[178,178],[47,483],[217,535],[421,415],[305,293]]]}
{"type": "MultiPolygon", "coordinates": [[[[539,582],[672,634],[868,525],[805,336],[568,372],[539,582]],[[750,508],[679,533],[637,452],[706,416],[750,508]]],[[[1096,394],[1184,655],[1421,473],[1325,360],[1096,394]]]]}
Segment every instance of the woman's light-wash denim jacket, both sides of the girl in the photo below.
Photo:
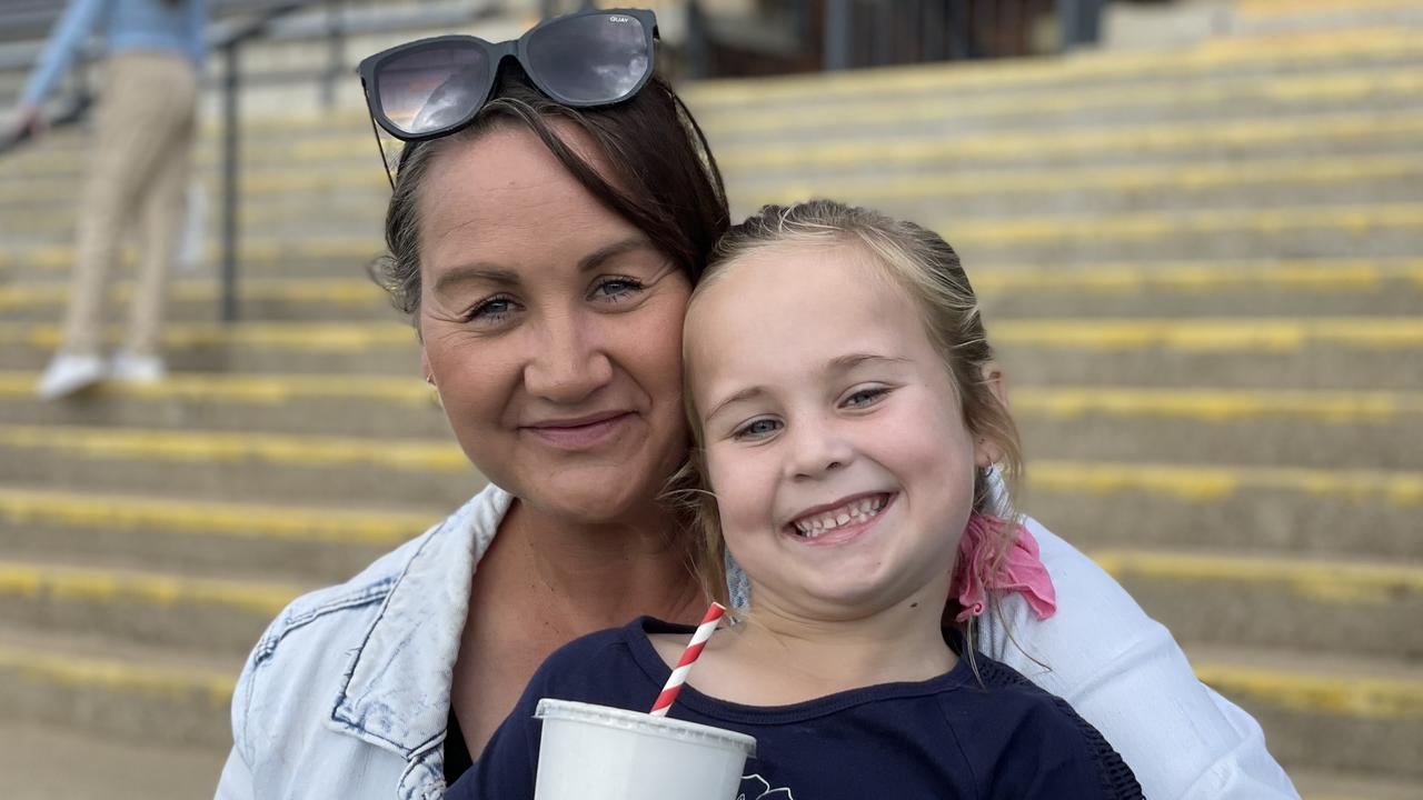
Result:
{"type": "MultiPolygon", "coordinates": [[[[444,794],[450,683],[470,582],[511,501],[485,488],[272,622],[232,698],[219,800],[444,794]]],[[[1003,618],[985,616],[980,648],[1067,699],[1121,753],[1147,797],[1298,797],[1255,720],[1195,679],[1165,628],[1072,545],[1026,524],[1052,574],[1057,614],[1039,621],[1020,595],[1005,596],[1003,618]],[[1009,629],[1022,649],[1007,642],[1009,629]]]]}

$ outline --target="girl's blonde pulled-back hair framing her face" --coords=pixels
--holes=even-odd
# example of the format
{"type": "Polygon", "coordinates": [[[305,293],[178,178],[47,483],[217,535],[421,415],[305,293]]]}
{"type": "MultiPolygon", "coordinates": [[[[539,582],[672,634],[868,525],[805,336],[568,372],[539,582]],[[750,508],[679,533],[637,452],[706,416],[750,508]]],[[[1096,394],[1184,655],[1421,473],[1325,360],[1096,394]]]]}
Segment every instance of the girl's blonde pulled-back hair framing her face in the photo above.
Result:
{"type": "MultiPolygon", "coordinates": [[[[830,199],[790,206],[767,205],[721,236],[692,302],[739,259],[766,248],[795,243],[859,248],[916,307],[929,342],[953,380],[965,426],[1000,453],[998,470],[1002,480],[995,480],[990,470],[979,470],[973,481],[973,514],[996,521],[993,554],[985,559],[989,574],[978,577],[979,585],[995,585],[993,578],[1002,569],[1016,534],[1013,493],[1022,480],[1023,456],[1017,427],[983,374],[993,360],[993,349],[958,253],[938,233],[867,208],[830,199]]],[[[687,463],[673,477],[669,495],[692,521],[697,540],[692,559],[703,586],[712,598],[726,604],[726,545],[716,495],[707,480],[704,438],[690,386],[683,397],[693,447],[687,463]]],[[[951,598],[945,619],[953,619],[958,611],[958,602],[951,598]]],[[[968,633],[972,636],[972,628],[968,633]]]]}

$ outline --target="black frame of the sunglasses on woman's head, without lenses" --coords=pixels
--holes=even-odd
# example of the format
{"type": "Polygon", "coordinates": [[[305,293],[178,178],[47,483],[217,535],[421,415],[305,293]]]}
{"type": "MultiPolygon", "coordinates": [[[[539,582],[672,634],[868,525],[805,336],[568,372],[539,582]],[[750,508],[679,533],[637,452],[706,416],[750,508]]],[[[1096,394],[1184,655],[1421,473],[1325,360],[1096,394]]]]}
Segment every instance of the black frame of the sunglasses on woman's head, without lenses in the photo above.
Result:
{"type": "Polygon", "coordinates": [[[498,84],[499,71],[504,68],[505,58],[509,57],[512,57],[515,61],[519,63],[519,65],[524,68],[524,73],[528,74],[529,80],[534,81],[534,85],[541,93],[544,93],[551,100],[561,102],[562,105],[568,105],[571,108],[593,108],[598,105],[615,105],[618,102],[622,102],[636,95],[639,91],[642,91],[642,88],[647,85],[647,81],[652,80],[652,74],[656,70],[655,64],[656,43],[659,41],[659,38],[660,37],[657,34],[657,16],[647,9],[591,9],[586,11],[576,11],[572,14],[565,14],[562,17],[551,17],[548,20],[544,20],[539,24],[524,31],[524,34],[519,36],[518,38],[509,41],[491,43],[477,36],[462,36],[462,34],[435,36],[430,38],[407,41],[406,44],[398,44],[396,47],[391,47],[390,50],[383,50],[374,56],[366,57],[364,60],[361,60],[356,71],[360,74],[361,90],[366,94],[366,108],[370,111],[371,121],[380,125],[387,134],[396,137],[400,141],[417,142],[417,141],[428,141],[428,140],[437,140],[440,137],[447,137],[472,122],[474,118],[480,114],[480,110],[484,108],[484,104],[490,101],[490,93],[494,91],[494,87],[498,84]],[[643,73],[643,75],[638,80],[638,84],[619,97],[610,100],[601,100],[596,102],[578,101],[559,94],[556,90],[554,90],[552,87],[545,84],[544,80],[539,78],[536,70],[529,68],[529,60],[528,60],[528,41],[536,33],[549,26],[556,26],[559,23],[566,23],[568,20],[591,17],[591,16],[622,16],[638,20],[642,24],[643,36],[646,37],[645,44],[647,47],[647,68],[643,73]],[[400,125],[391,121],[381,110],[376,84],[376,75],[380,73],[380,68],[387,61],[403,56],[408,56],[411,53],[438,50],[444,47],[470,47],[470,46],[484,50],[484,54],[490,63],[488,85],[484,87],[484,94],[480,97],[480,102],[477,102],[470,110],[468,114],[461,117],[454,124],[444,125],[441,128],[435,128],[433,131],[425,131],[421,134],[407,134],[401,131],[400,125]]]}

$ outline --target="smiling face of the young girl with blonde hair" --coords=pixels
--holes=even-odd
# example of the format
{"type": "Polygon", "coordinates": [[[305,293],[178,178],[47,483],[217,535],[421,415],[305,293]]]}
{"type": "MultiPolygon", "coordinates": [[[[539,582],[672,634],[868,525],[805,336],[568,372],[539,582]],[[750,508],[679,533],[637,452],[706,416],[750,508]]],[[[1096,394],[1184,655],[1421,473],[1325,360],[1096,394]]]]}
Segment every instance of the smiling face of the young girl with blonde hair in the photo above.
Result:
{"type": "Polygon", "coordinates": [[[851,245],[754,251],[687,315],[726,545],[757,612],[942,608],[986,446],[912,300],[851,245]]]}

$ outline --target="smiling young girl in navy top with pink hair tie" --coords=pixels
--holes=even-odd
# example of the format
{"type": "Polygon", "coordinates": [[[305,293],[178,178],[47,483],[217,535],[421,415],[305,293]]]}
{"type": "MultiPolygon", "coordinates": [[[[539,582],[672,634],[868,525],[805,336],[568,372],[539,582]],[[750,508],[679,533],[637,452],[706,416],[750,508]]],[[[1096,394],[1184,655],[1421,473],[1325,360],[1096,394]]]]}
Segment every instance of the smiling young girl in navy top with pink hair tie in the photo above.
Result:
{"type": "MultiPolygon", "coordinates": [[[[1141,796],[1063,700],[972,649],[995,592],[1053,596],[992,478],[1016,475],[1017,434],[943,239],[763,208],[713,255],[683,353],[694,561],[724,601],[730,555],[751,605],[672,716],[757,739],[746,800],[1141,796]]],[[[532,797],[538,699],[646,710],[687,633],[642,618],[556,652],[448,797],[532,797]]]]}

